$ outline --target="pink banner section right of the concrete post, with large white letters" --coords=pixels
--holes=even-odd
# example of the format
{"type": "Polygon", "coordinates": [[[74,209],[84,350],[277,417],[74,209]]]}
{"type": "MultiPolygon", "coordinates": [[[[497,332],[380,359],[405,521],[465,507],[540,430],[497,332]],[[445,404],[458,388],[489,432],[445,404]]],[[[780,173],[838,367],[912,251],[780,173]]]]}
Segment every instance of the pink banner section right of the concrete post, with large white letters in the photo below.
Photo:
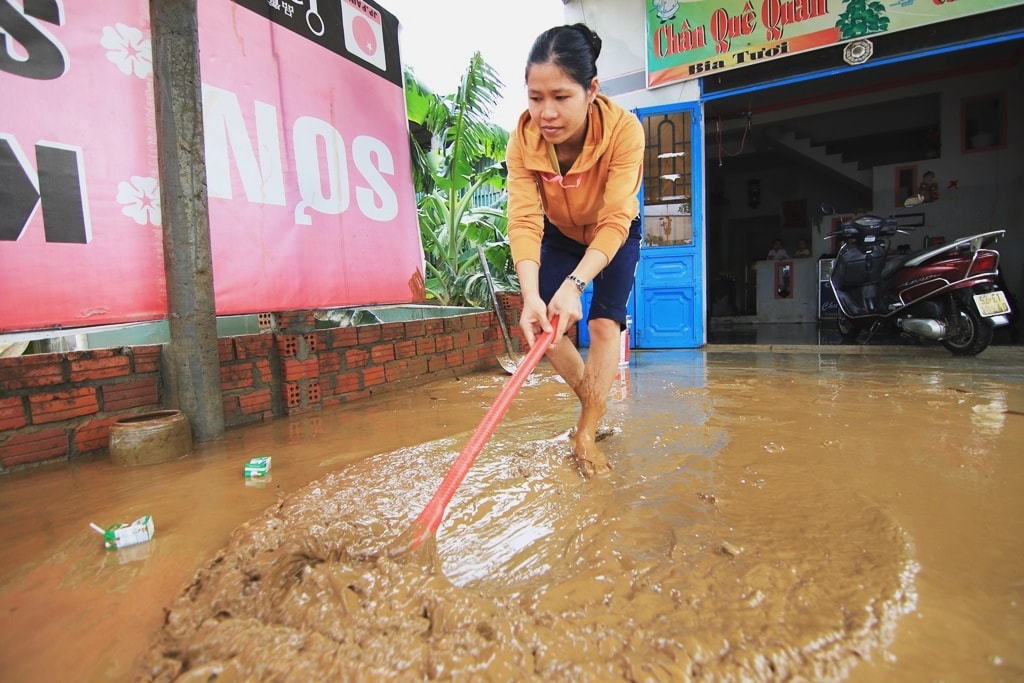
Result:
{"type": "Polygon", "coordinates": [[[360,0],[199,19],[217,310],[422,300],[397,20],[360,0]]]}

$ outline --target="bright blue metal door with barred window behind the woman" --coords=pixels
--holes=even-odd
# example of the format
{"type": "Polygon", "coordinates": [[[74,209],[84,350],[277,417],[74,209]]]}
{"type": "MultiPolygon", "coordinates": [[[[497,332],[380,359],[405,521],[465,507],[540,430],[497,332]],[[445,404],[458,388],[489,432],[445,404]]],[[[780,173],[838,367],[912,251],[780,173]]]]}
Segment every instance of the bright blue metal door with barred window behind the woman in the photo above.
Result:
{"type": "Polygon", "coordinates": [[[644,242],[633,289],[635,348],[705,343],[699,104],[640,110],[646,134],[644,242]]]}

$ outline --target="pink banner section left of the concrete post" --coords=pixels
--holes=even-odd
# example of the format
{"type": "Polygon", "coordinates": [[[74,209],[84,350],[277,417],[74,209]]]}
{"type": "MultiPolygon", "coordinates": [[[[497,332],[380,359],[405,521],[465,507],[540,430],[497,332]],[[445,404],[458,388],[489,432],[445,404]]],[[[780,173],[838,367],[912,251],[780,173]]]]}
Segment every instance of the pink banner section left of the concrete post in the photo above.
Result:
{"type": "Polygon", "coordinates": [[[0,332],[167,314],[148,2],[0,2],[0,332]]]}

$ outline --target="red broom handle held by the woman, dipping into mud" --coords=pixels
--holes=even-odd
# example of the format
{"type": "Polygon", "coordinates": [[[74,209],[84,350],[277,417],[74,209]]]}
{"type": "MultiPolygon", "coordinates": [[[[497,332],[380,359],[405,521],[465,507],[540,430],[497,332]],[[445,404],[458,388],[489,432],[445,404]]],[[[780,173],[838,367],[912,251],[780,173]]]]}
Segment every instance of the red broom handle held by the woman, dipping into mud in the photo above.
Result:
{"type": "Polygon", "coordinates": [[[537,368],[537,365],[541,361],[545,352],[547,352],[548,347],[551,346],[551,339],[554,337],[554,331],[558,327],[557,315],[551,318],[551,332],[543,333],[534,342],[532,348],[523,357],[522,362],[519,364],[519,367],[509,381],[505,383],[505,387],[498,394],[498,398],[487,409],[483,420],[480,421],[480,424],[473,431],[472,436],[469,437],[469,441],[463,447],[462,453],[459,454],[459,457],[452,464],[449,473],[444,476],[434,497],[423,508],[423,512],[413,522],[413,526],[409,531],[402,535],[402,540],[409,539],[410,542],[408,544],[399,544],[399,552],[418,548],[428,535],[433,533],[440,526],[441,517],[444,516],[444,509],[447,508],[452,497],[455,496],[456,489],[459,488],[462,480],[466,478],[469,468],[476,462],[476,457],[480,455],[484,444],[486,444],[492,434],[495,433],[498,423],[502,421],[502,418],[505,417],[505,414],[509,410],[509,405],[512,404],[512,399],[515,398],[526,378],[534,372],[534,369],[537,368]],[[410,536],[412,536],[411,539],[410,536]]]}

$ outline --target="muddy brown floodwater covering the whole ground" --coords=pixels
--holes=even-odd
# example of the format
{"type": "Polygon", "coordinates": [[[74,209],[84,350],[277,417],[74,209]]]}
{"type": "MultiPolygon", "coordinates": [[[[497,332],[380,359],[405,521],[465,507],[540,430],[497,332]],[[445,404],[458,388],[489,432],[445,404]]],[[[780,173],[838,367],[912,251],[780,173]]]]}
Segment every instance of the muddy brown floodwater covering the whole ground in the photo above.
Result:
{"type": "Polygon", "coordinates": [[[502,371],[0,477],[0,680],[1024,680],[1021,350],[635,351],[590,481],[542,366],[396,558],[502,371]]]}

